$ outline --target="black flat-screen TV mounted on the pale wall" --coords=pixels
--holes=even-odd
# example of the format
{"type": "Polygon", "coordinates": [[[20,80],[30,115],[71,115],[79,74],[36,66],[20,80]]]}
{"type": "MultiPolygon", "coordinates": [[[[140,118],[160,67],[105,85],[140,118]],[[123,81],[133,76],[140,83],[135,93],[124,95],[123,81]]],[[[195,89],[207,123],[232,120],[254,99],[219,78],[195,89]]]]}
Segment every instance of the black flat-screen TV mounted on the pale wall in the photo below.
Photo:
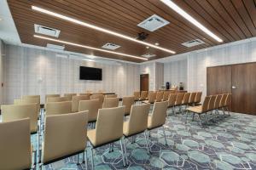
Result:
{"type": "Polygon", "coordinates": [[[102,69],[80,66],[80,80],[102,80],[102,69]]]}

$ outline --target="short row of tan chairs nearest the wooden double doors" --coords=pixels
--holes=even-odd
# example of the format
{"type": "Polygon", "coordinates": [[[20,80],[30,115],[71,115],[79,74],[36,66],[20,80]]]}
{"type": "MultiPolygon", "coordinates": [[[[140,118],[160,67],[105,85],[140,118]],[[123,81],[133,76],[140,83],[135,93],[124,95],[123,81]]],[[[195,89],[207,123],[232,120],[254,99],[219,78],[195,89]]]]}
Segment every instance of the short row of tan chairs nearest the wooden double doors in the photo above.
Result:
{"type": "Polygon", "coordinates": [[[188,113],[193,113],[193,120],[195,114],[198,116],[199,123],[202,126],[201,123],[201,115],[205,114],[206,121],[208,123],[208,117],[207,113],[217,113],[219,115],[219,110],[223,111],[223,114],[225,115],[225,111],[228,111],[228,114],[230,116],[229,106],[231,104],[231,94],[217,94],[217,95],[209,95],[206,96],[204,99],[202,105],[192,106],[186,109],[186,122],[188,113]]]}

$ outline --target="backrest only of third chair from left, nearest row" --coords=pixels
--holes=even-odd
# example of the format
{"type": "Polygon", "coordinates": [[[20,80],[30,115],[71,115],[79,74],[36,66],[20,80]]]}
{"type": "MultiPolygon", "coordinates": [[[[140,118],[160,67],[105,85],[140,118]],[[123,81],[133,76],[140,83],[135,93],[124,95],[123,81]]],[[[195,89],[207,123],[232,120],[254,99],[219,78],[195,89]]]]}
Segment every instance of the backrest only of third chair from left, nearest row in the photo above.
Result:
{"type": "Polygon", "coordinates": [[[99,110],[96,121],[96,145],[122,138],[124,115],[124,106],[99,110]]]}

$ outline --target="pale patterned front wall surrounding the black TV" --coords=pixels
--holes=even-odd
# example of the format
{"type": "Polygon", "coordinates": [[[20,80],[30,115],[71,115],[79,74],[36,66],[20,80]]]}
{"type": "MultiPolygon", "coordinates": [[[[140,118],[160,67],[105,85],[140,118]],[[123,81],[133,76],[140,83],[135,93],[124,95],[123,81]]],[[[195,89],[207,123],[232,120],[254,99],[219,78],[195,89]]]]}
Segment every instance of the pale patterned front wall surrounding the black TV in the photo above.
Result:
{"type": "Polygon", "coordinates": [[[139,65],[96,63],[56,57],[56,54],[43,49],[7,45],[4,57],[4,104],[11,104],[14,99],[26,94],[40,94],[44,103],[45,94],[103,89],[122,97],[139,90],[139,65]],[[102,68],[102,81],[79,80],[80,65],[102,68]]]}

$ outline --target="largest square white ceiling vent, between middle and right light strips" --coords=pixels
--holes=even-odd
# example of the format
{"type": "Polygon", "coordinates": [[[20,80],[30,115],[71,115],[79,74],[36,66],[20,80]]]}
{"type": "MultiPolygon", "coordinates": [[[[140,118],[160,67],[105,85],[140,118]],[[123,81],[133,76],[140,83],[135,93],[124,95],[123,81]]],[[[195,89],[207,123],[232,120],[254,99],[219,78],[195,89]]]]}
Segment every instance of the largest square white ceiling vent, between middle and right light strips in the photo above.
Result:
{"type": "Polygon", "coordinates": [[[137,26],[142,27],[148,31],[156,31],[160,27],[166,26],[169,23],[170,22],[161,18],[160,16],[153,14],[147,20],[143,20],[143,22],[139,23],[137,26]]]}

